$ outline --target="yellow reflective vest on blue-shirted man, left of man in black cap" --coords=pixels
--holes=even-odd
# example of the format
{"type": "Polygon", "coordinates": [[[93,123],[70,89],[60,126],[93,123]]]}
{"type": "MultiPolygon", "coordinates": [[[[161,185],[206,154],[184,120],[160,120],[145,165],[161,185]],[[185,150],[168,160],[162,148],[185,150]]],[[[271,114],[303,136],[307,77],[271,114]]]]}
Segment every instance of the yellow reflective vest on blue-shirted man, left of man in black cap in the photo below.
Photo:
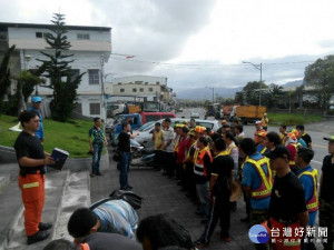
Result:
{"type": "Polygon", "coordinates": [[[246,162],[249,162],[255,167],[255,169],[261,178],[261,186],[258,187],[258,189],[252,190],[252,198],[253,199],[264,199],[264,198],[269,197],[272,194],[273,178],[272,178],[272,170],[268,164],[268,159],[264,158],[264,157],[258,160],[248,158],[246,160],[246,162]],[[265,174],[263,166],[267,167],[267,170],[268,170],[267,174],[265,174]]]}

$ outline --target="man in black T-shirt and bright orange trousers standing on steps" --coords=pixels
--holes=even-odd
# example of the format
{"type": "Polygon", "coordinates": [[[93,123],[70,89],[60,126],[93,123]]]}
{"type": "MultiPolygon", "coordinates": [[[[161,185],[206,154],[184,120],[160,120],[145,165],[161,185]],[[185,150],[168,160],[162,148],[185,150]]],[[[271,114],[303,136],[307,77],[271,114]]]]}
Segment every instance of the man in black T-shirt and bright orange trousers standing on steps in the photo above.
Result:
{"type": "Polygon", "coordinates": [[[35,111],[23,111],[19,120],[23,131],[18,136],[14,149],[20,167],[19,188],[24,206],[24,229],[27,243],[42,241],[50,236],[52,224],[41,222],[45,206],[45,166],[55,164],[51,156],[45,152],[36,131],[40,128],[40,118],[35,111]]]}

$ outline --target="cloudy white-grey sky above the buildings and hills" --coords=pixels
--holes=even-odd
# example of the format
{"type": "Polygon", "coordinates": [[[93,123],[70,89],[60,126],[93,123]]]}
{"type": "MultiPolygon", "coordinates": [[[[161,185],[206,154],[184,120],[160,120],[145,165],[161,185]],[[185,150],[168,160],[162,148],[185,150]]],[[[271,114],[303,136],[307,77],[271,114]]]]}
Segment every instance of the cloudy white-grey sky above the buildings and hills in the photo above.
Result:
{"type": "MultiPolygon", "coordinates": [[[[175,90],[239,87],[259,80],[243,61],[263,63],[266,83],[304,77],[334,53],[333,0],[0,0],[1,22],[111,27],[106,73],[167,77],[175,90]],[[118,54],[131,54],[125,60],[118,54]],[[149,63],[150,62],[150,63],[149,63]]],[[[111,76],[108,77],[110,81],[111,76]]]]}

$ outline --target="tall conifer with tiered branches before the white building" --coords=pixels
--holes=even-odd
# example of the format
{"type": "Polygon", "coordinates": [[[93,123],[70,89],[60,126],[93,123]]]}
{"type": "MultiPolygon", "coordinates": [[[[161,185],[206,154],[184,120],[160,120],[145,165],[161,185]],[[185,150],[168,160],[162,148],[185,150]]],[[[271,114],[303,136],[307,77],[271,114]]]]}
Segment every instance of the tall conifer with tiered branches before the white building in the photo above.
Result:
{"type": "Polygon", "coordinates": [[[46,41],[50,46],[51,52],[40,51],[46,60],[38,67],[38,73],[50,79],[50,88],[53,89],[53,99],[50,103],[51,116],[53,120],[66,121],[73,108],[77,99],[77,89],[80,84],[84,73],[72,77],[70,63],[73,60],[68,60],[73,54],[66,53],[71,44],[67,40],[67,28],[65,23],[65,16],[60,13],[53,14],[53,27],[50,28],[46,36],[46,41]]]}

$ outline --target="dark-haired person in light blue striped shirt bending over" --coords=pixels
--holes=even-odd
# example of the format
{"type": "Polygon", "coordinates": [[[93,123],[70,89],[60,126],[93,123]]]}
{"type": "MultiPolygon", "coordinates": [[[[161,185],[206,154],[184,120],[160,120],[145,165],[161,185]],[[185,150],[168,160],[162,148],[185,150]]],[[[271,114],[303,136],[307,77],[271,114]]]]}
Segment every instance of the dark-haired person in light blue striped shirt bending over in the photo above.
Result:
{"type": "Polygon", "coordinates": [[[136,240],[138,217],[134,208],[124,200],[106,201],[94,210],[79,208],[68,221],[68,232],[80,242],[80,238],[95,232],[114,232],[136,240]]]}

